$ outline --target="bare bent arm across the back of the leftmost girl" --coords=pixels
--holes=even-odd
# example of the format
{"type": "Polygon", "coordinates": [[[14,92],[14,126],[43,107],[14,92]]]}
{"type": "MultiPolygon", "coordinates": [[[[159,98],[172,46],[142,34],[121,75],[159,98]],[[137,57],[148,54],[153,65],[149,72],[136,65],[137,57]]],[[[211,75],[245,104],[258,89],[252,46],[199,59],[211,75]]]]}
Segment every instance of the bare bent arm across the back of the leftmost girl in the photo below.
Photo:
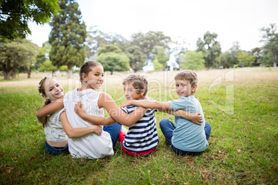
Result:
{"type": "Polygon", "coordinates": [[[56,113],[57,111],[64,108],[63,99],[64,96],[39,109],[36,114],[37,119],[39,119],[42,124],[46,124],[46,117],[48,115],[56,113]]]}

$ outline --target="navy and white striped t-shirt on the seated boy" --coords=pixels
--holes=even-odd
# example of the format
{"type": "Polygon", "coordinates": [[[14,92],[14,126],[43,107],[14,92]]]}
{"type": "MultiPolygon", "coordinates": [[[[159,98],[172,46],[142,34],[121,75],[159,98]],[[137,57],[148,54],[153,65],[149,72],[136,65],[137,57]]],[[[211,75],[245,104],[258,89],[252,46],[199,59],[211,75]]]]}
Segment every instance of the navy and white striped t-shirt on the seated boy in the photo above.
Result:
{"type": "MultiPolygon", "coordinates": [[[[136,110],[138,106],[127,106],[122,108],[128,115],[136,110]]],[[[122,145],[126,150],[133,153],[142,153],[158,146],[158,133],[156,130],[156,121],[154,118],[157,110],[147,109],[145,115],[139,119],[124,137],[122,145]]]]}

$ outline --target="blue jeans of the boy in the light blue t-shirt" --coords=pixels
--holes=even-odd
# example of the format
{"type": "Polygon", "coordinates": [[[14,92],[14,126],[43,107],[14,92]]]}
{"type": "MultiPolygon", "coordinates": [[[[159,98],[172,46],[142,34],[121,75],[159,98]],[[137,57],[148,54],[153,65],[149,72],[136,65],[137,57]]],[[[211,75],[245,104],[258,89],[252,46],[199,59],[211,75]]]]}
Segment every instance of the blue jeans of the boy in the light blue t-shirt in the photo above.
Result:
{"type": "MultiPolygon", "coordinates": [[[[167,139],[168,144],[171,146],[172,150],[175,153],[178,153],[180,155],[200,155],[203,152],[189,152],[189,151],[184,151],[180,150],[176,147],[173,146],[172,144],[172,137],[173,137],[173,130],[176,129],[176,125],[172,123],[169,119],[161,119],[159,122],[159,126],[161,131],[163,132],[163,135],[167,139]]],[[[210,124],[205,122],[205,138],[209,139],[210,137],[210,132],[212,128],[210,127],[210,124]]]]}

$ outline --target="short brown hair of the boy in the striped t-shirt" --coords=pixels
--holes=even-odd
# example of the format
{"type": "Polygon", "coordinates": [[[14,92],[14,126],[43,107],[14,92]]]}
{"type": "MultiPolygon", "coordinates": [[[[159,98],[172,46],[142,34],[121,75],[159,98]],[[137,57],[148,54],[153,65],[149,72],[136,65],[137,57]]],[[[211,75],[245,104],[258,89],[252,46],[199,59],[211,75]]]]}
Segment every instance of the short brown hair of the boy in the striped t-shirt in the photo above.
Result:
{"type": "Polygon", "coordinates": [[[138,94],[141,93],[143,89],[145,89],[144,96],[147,95],[148,91],[148,81],[145,76],[138,75],[138,74],[133,74],[129,75],[122,81],[122,85],[126,84],[131,84],[135,89],[138,94]]]}

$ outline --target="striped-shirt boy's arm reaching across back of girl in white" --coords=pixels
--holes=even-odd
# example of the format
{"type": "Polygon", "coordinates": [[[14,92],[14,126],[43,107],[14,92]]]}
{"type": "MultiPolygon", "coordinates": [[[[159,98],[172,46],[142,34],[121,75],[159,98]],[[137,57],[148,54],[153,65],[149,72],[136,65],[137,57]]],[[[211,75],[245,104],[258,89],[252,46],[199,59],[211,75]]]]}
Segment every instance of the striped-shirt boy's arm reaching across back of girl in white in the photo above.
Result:
{"type": "Polygon", "coordinates": [[[85,112],[84,106],[81,102],[78,102],[77,104],[75,104],[74,111],[79,117],[81,117],[85,121],[88,121],[89,123],[92,123],[92,124],[108,126],[108,125],[111,125],[111,124],[114,124],[115,122],[117,122],[114,119],[112,119],[111,117],[97,117],[97,116],[93,116],[93,115],[88,115],[85,112]]]}

